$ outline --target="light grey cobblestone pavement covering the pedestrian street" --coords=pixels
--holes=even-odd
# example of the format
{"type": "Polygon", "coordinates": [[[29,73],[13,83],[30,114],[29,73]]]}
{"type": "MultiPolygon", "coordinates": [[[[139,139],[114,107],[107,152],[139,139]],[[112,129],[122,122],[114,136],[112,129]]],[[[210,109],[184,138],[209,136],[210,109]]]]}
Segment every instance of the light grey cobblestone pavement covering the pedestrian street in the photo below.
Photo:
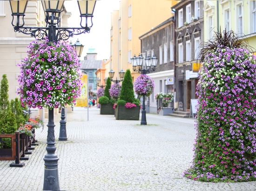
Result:
{"type": "MultiPolygon", "coordinates": [[[[256,182],[205,183],[182,176],[193,158],[193,119],[147,114],[140,121],[115,120],[100,109],[67,114],[67,141],[59,141],[54,117],[60,189],[65,191],[255,191],[256,182]]],[[[46,122],[47,123],[47,122],[46,122]]],[[[0,191],[43,189],[47,127],[25,166],[0,161],[0,191]]]]}

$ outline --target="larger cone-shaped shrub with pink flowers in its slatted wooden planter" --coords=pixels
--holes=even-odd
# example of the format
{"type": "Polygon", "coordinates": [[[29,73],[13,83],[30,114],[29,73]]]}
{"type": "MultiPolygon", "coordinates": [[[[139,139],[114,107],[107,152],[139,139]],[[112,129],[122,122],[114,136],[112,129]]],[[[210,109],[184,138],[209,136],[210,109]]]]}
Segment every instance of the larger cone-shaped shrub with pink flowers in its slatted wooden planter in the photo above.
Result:
{"type": "Polygon", "coordinates": [[[140,101],[135,99],[130,70],[126,70],[121,86],[121,94],[115,105],[115,119],[139,120],[140,101]]]}

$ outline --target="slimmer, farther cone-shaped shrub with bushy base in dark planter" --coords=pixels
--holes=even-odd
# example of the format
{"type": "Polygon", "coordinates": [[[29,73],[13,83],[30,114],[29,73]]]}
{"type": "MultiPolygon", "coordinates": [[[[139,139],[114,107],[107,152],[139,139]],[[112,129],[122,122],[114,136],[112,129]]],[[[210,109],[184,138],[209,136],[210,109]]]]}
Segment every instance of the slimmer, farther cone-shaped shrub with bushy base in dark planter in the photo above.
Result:
{"type": "Polygon", "coordinates": [[[114,100],[111,98],[109,89],[111,87],[110,77],[107,79],[106,87],[104,89],[104,96],[99,98],[100,106],[100,114],[101,115],[114,115],[115,109],[113,108],[114,100]]]}

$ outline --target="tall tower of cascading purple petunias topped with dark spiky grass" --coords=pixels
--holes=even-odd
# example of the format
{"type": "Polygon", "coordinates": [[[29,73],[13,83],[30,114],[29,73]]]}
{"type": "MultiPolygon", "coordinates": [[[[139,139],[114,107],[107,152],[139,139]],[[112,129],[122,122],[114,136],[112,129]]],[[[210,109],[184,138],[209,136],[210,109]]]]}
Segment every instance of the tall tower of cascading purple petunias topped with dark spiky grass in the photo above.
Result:
{"type": "Polygon", "coordinates": [[[187,178],[256,180],[256,56],[246,47],[224,31],[202,51],[195,154],[187,178]]]}

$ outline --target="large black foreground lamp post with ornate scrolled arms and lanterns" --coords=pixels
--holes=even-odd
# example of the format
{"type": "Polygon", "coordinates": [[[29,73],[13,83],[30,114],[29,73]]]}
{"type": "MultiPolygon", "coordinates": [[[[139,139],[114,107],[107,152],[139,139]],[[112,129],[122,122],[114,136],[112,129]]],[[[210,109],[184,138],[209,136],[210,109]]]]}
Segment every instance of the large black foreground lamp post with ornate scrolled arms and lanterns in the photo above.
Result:
{"type": "MultiPolygon", "coordinates": [[[[28,0],[9,0],[12,10],[12,25],[14,32],[21,32],[28,34],[31,37],[42,40],[48,37],[50,42],[57,42],[60,40],[67,40],[74,35],[90,32],[93,26],[92,17],[96,0],[78,0],[78,7],[80,11],[81,27],[60,27],[61,11],[63,11],[64,0],[41,0],[43,9],[45,11],[46,27],[28,27],[24,26],[24,16],[27,8],[28,0]],[[88,19],[90,24],[88,25],[88,19]],[[85,25],[83,25],[83,23],[85,25]]],[[[61,111],[62,113],[62,111],[61,111]]],[[[47,133],[47,154],[44,157],[44,191],[59,191],[59,175],[58,175],[58,156],[55,154],[55,137],[54,137],[54,109],[49,109],[48,113],[48,133],[47,133]]],[[[62,114],[61,114],[62,115],[62,114]]],[[[64,115],[65,116],[65,115],[64,115]]],[[[62,119],[62,118],[61,118],[62,119]]],[[[64,117],[65,119],[65,117],[64,117]]],[[[64,120],[63,119],[63,120],[64,120]]]]}

